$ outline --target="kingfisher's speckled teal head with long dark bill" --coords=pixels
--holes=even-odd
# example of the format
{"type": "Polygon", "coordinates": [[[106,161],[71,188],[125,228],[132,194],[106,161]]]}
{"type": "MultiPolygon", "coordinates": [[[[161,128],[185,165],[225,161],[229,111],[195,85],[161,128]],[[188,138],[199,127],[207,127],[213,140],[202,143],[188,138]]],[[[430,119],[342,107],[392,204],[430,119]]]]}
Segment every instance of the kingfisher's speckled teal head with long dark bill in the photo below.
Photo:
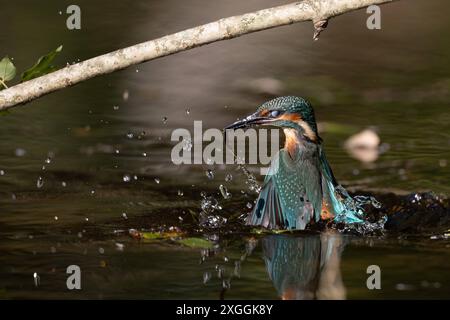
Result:
{"type": "Polygon", "coordinates": [[[321,141],[314,110],[311,104],[299,97],[279,97],[263,103],[255,113],[227,126],[227,129],[247,128],[254,125],[270,125],[282,129],[297,130],[305,139],[321,141]]]}

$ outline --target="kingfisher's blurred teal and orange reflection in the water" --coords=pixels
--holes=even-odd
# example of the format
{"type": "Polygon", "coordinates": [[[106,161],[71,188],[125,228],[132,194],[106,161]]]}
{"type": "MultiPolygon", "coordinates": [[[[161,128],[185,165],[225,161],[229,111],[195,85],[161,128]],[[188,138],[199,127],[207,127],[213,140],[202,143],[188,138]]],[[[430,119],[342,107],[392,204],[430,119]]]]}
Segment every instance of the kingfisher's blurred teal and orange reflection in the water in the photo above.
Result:
{"type": "Polygon", "coordinates": [[[261,243],[267,272],[282,299],[345,299],[340,234],[271,235],[261,243]]]}

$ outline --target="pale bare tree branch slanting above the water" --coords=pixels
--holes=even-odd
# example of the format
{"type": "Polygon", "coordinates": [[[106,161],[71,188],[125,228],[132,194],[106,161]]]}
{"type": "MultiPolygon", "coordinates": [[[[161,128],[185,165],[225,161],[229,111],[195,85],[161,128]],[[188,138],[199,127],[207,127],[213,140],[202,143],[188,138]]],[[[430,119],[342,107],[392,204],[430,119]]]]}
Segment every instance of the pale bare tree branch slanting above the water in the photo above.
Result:
{"type": "Polygon", "coordinates": [[[301,21],[312,21],[315,27],[314,39],[316,39],[326,27],[329,18],[372,4],[392,1],[395,0],[304,0],[220,19],[69,65],[2,90],[0,91],[0,111],[102,74],[247,33],[301,21]]]}

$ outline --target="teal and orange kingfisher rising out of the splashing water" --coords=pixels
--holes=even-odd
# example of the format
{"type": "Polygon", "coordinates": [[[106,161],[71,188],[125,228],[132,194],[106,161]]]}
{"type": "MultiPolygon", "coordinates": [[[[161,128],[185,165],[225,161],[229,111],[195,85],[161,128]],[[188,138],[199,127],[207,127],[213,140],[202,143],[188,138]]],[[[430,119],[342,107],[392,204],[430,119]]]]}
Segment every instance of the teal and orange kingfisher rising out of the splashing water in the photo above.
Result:
{"type": "Polygon", "coordinates": [[[284,148],[272,158],[247,224],[268,229],[304,230],[320,220],[361,223],[363,211],[340,186],[325,156],[311,104],[278,97],[225,130],[273,126],[283,130],[284,148]]]}

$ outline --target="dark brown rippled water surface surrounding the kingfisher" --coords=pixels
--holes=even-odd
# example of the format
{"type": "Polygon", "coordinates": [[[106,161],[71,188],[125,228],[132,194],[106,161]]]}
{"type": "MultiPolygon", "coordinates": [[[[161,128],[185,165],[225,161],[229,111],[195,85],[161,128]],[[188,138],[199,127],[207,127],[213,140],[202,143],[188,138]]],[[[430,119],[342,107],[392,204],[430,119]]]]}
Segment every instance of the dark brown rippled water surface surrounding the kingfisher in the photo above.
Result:
{"type": "MultiPolygon", "coordinates": [[[[63,44],[65,65],[283,3],[78,1],[82,30],[69,31],[69,2],[7,2],[0,56],[24,70],[63,44]]],[[[233,197],[220,200],[217,214],[227,217],[245,214],[256,195],[236,166],[170,160],[173,129],[192,130],[194,120],[223,128],[276,95],[299,95],[312,101],[330,163],[349,190],[375,193],[391,209],[418,192],[441,203],[450,191],[448,7],[438,0],[385,6],[379,31],[365,28],[364,11],[354,12],[331,21],[318,42],[308,23],[267,30],[89,80],[0,117],[0,297],[448,298],[448,224],[417,231],[410,221],[408,230],[382,237],[257,235],[239,221],[204,230],[192,219],[201,192],[220,200],[226,184],[233,197]],[[343,148],[367,127],[386,147],[372,163],[343,148]],[[173,226],[213,248],[128,235],[173,226]],[[80,292],[66,289],[70,264],[82,269],[80,292]],[[382,270],[381,290],[366,287],[373,264],[382,270]]],[[[445,220],[448,202],[439,213],[445,220]]]]}

